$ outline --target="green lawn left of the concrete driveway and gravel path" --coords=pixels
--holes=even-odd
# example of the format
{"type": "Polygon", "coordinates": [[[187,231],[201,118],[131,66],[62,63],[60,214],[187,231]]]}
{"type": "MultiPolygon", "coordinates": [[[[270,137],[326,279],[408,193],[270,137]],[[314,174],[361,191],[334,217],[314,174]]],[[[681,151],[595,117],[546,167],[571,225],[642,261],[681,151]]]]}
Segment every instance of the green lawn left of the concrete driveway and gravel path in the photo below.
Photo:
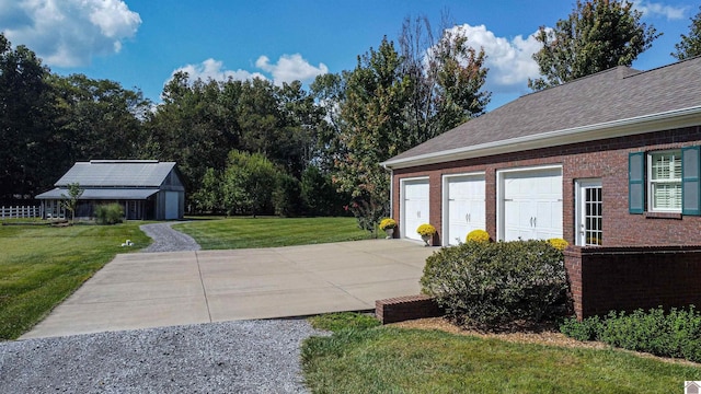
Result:
{"type": "Polygon", "coordinates": [[[147,246],[139,224],[0,225],[0,340],[15,339],[117,253],[147,246]],[[135,247],[122,247],[125,240],[135,247]]]}

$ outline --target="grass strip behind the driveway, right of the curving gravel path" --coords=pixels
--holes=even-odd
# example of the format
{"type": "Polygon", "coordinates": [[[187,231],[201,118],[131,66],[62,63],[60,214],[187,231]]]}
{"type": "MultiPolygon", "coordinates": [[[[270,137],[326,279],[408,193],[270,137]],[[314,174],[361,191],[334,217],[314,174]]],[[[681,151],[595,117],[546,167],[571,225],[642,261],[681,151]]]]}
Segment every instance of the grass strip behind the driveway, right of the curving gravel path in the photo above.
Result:
{"type": "Polygon", "coordinates": [[[204,250],[276,247],[366,240],[355,218],[229,218],[173,227],[204,250]]]}

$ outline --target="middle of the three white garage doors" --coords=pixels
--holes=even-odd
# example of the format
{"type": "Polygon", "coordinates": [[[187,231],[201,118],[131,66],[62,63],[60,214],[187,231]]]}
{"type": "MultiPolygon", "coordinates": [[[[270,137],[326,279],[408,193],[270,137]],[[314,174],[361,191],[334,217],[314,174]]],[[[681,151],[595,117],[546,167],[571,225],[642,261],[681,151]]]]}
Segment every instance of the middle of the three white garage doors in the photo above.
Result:
{"type": "Polygon", "coordinates": [[[484,220],[484,175],[446,177],[444,239],[449,245],[466,241],[472,230],[486,230],[484,220]]]}

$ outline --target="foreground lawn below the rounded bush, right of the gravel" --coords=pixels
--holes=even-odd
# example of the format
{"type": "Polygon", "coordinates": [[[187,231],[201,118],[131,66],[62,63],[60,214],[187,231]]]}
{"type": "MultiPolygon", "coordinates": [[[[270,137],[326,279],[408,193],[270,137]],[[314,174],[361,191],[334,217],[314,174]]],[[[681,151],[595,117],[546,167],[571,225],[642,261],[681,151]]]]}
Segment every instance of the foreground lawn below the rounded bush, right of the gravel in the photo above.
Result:
{"type": "Polygon", "coordinates": [[[685,381],[701,380],[701,368],[614,349],[392,326],[335,329],[302,346],[313,393],[681,393],[685,381]]]}

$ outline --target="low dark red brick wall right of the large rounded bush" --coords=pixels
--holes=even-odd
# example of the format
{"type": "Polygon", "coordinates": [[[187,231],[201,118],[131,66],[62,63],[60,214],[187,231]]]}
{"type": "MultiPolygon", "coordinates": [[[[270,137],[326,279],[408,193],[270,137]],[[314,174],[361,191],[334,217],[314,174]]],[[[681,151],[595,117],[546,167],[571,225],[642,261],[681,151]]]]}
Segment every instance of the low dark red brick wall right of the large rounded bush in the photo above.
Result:
{"type": "Polygon", "coordinates": [[[701,246],[565,251],[577,317],[657,306],[701,306],[701,246]]]}

